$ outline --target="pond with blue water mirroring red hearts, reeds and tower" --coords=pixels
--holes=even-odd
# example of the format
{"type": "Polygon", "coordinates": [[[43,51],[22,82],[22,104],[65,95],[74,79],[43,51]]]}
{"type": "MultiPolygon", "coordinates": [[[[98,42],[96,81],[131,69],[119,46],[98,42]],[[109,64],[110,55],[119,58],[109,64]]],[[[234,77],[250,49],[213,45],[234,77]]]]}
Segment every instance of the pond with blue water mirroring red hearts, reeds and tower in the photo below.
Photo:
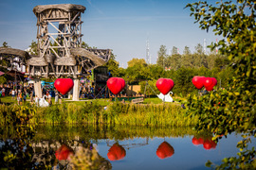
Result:
{"type": "MultiPolygon", "coordinates": [[[[236,144],[242,139],[240,134],[232,133],[217,144],[210,140],[211,137],[210,133],[198,134],[191,127],[41,125],[36,127],[32,138],[26,142],[17,140],[10,132],[4,132],[0,139],[0,150],[1,156],[10,147],[22,150],[25,155],[29,153],[29,158],[23,155],[22,162],[19,161],[24,168],[41,165],[69,169],[70,153],[74,155],[84,147],[96,149],[107,164],[102,169],[198,170],[209,169],[205,166],[208,160],[220,164],[222,159],[236,156],[239,151],[236,144]]],[[[252,144],[255,142],[253,139],[252,144]]],[[[15,152],[13,148],[10,152],[15,152]]],[[[1,162],[1,167],[7,164],[1,162]]],[[[15,163],[9,163],[9,166],[15,167],[15,163]]]]}

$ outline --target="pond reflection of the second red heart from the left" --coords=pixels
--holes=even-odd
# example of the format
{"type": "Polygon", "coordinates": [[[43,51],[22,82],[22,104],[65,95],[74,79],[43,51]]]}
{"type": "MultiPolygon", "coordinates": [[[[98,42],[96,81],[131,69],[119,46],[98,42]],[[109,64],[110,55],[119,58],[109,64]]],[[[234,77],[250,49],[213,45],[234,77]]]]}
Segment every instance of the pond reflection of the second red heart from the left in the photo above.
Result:
{"type": "Polygon", "coordinates": [[[110,161],[119,161],[126,156],[125,149],[119,144],[113,144],[108,150],[107,157],[110,161]]]}

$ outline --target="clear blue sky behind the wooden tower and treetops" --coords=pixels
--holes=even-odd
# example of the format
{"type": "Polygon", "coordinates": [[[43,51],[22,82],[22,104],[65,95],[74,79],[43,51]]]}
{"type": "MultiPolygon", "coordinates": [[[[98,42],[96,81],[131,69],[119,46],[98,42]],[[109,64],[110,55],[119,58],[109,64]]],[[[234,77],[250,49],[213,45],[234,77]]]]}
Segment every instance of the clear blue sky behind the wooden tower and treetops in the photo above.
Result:
{"type": "MultiPolygon", "coordinates": [[[[86,8],[82,14],[82,41],[98,48],[110,48],[119,65],[146,58],[149,41],[152,63],[161,44],[182,54],[187,45],[193,52],[197,43],[215,42],[213,33],[200,30],[184,8],[197,0],[1,0],[0,45],[8,42],[12,48],[27,49],[36,41],[38,5],[77,4],[86,8]]],[[[215,1],[210,1],[214,3],[215,1]]]]}

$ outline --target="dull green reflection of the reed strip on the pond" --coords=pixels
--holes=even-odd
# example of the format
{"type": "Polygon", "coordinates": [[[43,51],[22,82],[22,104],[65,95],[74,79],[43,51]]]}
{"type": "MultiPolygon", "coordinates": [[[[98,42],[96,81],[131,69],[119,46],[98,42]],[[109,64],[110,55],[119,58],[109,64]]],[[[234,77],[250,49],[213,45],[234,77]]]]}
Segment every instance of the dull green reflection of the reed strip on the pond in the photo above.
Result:
{"type": "Polygon", "coordinates": [[[109,140],[125,140],[137,138],[170,138],[170,137],[184,137],[187,135],[195,135],[195,131],[191,127],[146,127],[146,126],[122,126],[122,125],[94,125],[94,124],[82,124],[82,125],[45,125],[41,124],[36,127],[37,133],[35,134],[33,141],[47,141],[50,139],[73,140],[76,136],[84,141],[97,141],[101,139],[109,140]],[[60,133],[61,131],[61,133],[60,133]]]}

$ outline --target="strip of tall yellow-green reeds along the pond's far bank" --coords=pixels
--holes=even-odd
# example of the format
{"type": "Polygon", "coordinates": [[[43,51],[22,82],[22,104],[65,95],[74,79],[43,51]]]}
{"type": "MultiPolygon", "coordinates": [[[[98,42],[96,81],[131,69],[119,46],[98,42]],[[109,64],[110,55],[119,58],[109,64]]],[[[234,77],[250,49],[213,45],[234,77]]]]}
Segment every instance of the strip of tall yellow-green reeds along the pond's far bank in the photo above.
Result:
{"type": "MultiPolygon", "coordinates": [[[[158,104],[158,98],[151,98],[145,103],[131,104],[121,102],[110,102],[107,99],[96,99],[89,101],[64,101],[63,104],[54,104],[46,108],[38,108],[27,102],[24,106],[1,105],[1,124],[8,119],[12,111],[19,112],[15,115],[23,116],[30,123],[46,124],[106,124],[106,125],[130,125],[130,126],[151,126],[151,127],[188,127],[193,126],[197,119],[185,115],[180,103],[158,104]],[[5,110],[5,111],[4,111],[5,110]],[[28,115],[33,110],[33,115],[28,115]],[[25,115],[26,114],[26,115],[25,115]]],[[[3,101],[3,100],[2,100],[3,101]]],[[[11,101],[11,99],[10,99],[11,101]]],[[[12,100],[13,101],[13,100],[12,100]]]]}

